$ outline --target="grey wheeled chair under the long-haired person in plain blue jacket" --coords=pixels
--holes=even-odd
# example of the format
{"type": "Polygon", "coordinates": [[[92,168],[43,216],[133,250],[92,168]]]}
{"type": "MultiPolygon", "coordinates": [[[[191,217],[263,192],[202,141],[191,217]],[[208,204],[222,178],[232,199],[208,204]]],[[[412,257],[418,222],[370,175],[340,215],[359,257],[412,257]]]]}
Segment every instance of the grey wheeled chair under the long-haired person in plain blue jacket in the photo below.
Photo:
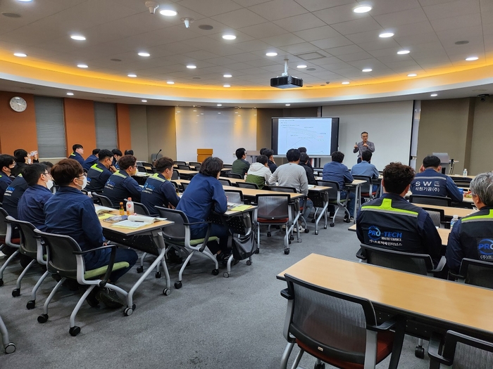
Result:
{"type": "Polygon", "coordinates": [[[165,207],[158,207],[159,214],[168,219],[168,221],[174,221],[172,227],[163,228],[163,239],[168,247],[166,247],[166,252],[170,250],[171,247],[185,252],[188,254],[187,259],[182,264],[180,268],[180,272],[178,273],[178,280],[175,282],[175,288],[180,289],[182,287],[182,275],[183,271],[187,267],[188,262],[194,254],[197,252],[206,255],[209,259],[214,262],[214,268],[212,270],[212,275],[217,276],[219,273],[219,264],[216,257],[206,249],[207,242],[209,241],[218,241],[219,239],[216,236],[210,236],[209,233],[211,231],[211,223],[210,222],[196,222],[190,223],[187,215],[184,212],[176,209],[167,209],[165,207]],[[204,238],[192,239],[190,235],[190,226],[194,224],[207,224],[207,233],[204,238]]]}

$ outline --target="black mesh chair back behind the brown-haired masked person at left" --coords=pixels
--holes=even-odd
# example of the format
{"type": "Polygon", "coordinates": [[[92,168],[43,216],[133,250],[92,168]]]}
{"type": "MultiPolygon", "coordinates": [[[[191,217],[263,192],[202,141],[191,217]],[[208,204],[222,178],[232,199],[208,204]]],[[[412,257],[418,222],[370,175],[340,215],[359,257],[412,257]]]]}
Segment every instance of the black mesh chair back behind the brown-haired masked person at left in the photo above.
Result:
{"type": "Polygon", "coordinates": [[[35,230],[35,233],[44,240],[46,246],[46,268],[51,274],[58,274],[68,278],[77,278],[77,257],[74,252],[80,252],[80,247],[68,235],[56,235],[35,230]]]}

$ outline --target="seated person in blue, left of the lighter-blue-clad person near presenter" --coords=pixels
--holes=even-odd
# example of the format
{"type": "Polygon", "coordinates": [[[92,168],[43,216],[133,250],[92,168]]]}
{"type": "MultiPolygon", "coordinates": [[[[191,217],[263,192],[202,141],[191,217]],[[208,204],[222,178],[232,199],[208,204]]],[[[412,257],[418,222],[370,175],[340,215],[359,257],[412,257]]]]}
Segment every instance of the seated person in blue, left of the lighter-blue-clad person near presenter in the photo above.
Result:
{"type": "MultiPolygon", "coordinates": [[[[344,188],[344,183],[351,183],[354,181],[353,176],[351,175],[351,172],[347,167],[342,164],[342,160],[344,160],[344,154],[341,153],[340,151],[335,151],[334,153],[331,154],[332,156],[332,162],[328,162],[323,166],[323,175],[322,179],[324,181],[334,181],[339,183],[339,190],[341,190],[341,200],[347,198],[348,192],[345,190],[342,190],[344,188]]],[[[344,221],[354,221],[353,216],[354,216],[354,199],[356,198],[356,195],[354,192],[349,192],[349,198],[348,198],[348,204],[347,204],[347,209],[349,210],[349,214],[351,216],[347,216],[347,214],[344,214],[344,221]]]]}

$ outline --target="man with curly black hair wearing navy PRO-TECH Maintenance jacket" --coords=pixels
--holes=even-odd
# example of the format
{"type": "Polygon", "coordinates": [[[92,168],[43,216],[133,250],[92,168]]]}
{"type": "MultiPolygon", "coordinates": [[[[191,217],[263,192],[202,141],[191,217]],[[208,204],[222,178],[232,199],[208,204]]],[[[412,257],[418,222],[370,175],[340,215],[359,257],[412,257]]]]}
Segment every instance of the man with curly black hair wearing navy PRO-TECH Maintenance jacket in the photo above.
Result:
{"type": "Polygon", "coordinates": [[[381,198],[364,203],[356,220],[361,243],[386,250],[429,254],[436,264],[440,260],[442,240],[430,214],[404,198],[414,170],[392,162],[383,171],[381,198]]]}

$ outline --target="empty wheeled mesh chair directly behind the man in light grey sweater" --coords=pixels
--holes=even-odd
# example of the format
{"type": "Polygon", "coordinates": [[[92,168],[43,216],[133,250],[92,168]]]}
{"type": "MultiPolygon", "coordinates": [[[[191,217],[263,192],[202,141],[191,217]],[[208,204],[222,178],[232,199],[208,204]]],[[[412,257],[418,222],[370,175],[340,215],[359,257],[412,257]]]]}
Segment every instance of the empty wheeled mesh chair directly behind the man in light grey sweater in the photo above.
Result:
{"type": "Polygon", "coordinates": [[[289,195],[256,195],[257,209],[254,213],[257,228],[258,250],[260,250],[260,226],[268,226],[267,237],[270,237],[270,226],[285,226],[284,253],[289,254],[291,240],[288,235],[292,231],[289,211],[289,195]]]}

